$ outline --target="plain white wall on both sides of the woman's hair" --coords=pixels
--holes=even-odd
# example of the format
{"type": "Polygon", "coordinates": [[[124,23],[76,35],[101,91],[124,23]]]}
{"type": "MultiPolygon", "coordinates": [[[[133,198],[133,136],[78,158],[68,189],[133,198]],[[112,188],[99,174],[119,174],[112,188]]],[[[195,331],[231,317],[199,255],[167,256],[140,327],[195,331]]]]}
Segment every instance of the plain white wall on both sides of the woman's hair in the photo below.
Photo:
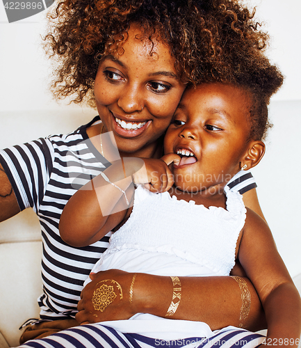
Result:
{"type": "MultiPolygon", "coordinates": [[[[300,0],[245,0],[257,6],[259,22],[266,22],[272,41],[269,56],[286,75],[282,90],[273,100],[301,99],[300,0]]],[[[0,3],[0,109],[32,110],[56,108],[47,92],[49,62],[40,48],[44,12],[8,23],[0,3]]]]}

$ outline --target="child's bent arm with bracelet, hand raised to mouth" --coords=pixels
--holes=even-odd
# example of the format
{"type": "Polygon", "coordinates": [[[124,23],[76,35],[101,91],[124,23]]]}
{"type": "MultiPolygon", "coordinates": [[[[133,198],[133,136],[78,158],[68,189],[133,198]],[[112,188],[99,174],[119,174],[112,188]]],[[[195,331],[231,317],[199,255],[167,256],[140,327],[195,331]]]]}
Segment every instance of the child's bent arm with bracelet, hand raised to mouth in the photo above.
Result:
{"type": "Polygon", "coordinates": [[[168,191],[173,184],[168,165],[161,159],[126,157],[103,174],[74,193],[63,210],[60,236],[72,246],[97,242],[128,217],[133,182],[154,192],[168,191]]]}

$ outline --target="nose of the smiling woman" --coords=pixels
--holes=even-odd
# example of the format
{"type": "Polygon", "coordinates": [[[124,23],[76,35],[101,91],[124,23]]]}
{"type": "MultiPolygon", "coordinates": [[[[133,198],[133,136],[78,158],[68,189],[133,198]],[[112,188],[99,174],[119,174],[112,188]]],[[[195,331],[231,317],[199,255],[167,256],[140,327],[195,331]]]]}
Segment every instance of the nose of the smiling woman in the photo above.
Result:
{"type": "Polygon", "coordinates": [[[144,108],[143,93],[138,86],[124,86],[118,98],[117,105],[126,113],[142,111],[144,108]]]}

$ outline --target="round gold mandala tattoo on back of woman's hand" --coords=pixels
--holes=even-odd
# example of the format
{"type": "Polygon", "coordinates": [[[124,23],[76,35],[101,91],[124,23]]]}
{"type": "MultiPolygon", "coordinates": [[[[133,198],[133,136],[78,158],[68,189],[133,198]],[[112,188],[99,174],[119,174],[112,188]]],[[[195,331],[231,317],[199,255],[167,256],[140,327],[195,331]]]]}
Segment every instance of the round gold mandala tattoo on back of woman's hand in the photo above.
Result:
{"type": "Polygon", "coordinates": [[[95,310],[100,310],[101,312],[104,312],[106,307],[108,307],[108,305],[115,300],[117,295],[115,294],[115,291],[114,291],[114,285],[116,285],[117,290],[119,290],[120,299],[122,300],[123,298],[122,287],[119,283],[117,283],[116,280],[113,280],[113,279],[101,280],[99,283],[97,283],[96,285],[97,289],[94,290],[94,294],[92,296],[92,303],[95,310]],[[110,282],[113,285],[102,284],[99,287],[97,287],[100,283],[106,283],[106,282],[110,282]]]}

